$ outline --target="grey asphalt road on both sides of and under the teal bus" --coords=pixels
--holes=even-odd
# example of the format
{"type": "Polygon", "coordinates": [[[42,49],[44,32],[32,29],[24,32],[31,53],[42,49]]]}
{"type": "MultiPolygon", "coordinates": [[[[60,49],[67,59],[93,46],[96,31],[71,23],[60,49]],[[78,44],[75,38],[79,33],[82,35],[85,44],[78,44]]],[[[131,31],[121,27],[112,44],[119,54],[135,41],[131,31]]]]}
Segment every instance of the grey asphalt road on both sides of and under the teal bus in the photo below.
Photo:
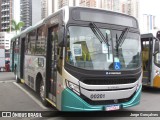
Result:
{"type": "MultiPolygon", "coordinates": [[[[55,111],[54,108],[44,107],[39,101],[39,97],[24,84],[17,84],[14,80],[13,73],[2,73],[0,72],[0,111],[55,111]]],[[[141,103],[138,106],[125,109],[123,111],[160,111],[160,89],[151,89],[147,88],[143,90],[141,96],[141,103]]],[[[30,118],[33,120],[106,120],[106,114],[108,112],[91,112],[91,113],[59,113],[55,112],[53,118],[30,118]],[[78,116],[78,117],[72,117],[78,116]],[[85,117],[84,117],[85,116],[85,117]],[[92,117],[91,117],[92,116],[92,117]],[[83,118],[81,118],[83,117],[83,118]]],[[[118,120],[128,120],[127,117],[116,117],[116,116],[125,116],[126,113],[115,113],[112,112],[115,117],[107,117],[108,119],[118,119],[118,120]]],[[[10,118],[13,119],[13,118],[10,118]]],[[[19,118],[20,119],[20,118],[19,118]]],[[[22,119],[22,118],[21,118],[22,119]]],[[[23,118],[24,119],[24,118],[23,118]]],[[[27,118],[25,118],[27,119],[27,118]]],[[[129,118],[130,120],[137,120],[137,118],[129,118]]],[[[138,119],[147,119],[147,118],[138,118],[138,119]]],[[[160,118],[148,118],[158,120],[160,118]]],[[[8,120],[8,118],[7,118],[8,120]]],[[[16,120],[16,118],[15,118],[16,120]]]]}

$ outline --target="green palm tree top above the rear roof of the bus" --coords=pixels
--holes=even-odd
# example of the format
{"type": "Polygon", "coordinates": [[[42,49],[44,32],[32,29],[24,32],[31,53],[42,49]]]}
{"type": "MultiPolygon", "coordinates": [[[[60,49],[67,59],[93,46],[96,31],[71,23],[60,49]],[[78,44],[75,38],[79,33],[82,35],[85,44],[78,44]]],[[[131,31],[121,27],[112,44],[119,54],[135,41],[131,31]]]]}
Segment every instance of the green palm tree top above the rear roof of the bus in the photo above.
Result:
{"type": "MultiPolygon", "coordinates": [[[[11,22],[12,22],[12,24],[11,24],[11,31],[15,31],[16,34],[17,34],[17,32],[20,31],[21,28],[25,25],[25,23],[22,22],[22,21],[20,21],[20,22],[17,23],[15,20],[12,20],[11,22]]],[[[10,31],[10,27],[9,27],[9,28],[7,29],[7,32],[11,32],[11,31],[10,31]]]]}

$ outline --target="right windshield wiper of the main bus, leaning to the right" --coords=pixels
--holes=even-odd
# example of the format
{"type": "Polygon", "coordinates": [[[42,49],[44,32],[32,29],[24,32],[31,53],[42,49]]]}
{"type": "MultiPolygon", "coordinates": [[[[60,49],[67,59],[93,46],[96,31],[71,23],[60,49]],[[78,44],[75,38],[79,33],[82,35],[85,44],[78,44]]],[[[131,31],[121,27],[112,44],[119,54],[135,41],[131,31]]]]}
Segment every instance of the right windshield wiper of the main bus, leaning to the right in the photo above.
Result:
{"type": "Polygon", "coordinates": [[[123,42],[125,41],[125,39],[127,37],[129,29],[130,29],[129,27],[125,28],[125,30],[123,30],[123,32],[121,33],[119,39],[116,41],[117,42],[117,48],[122,46],[123,42]]]}

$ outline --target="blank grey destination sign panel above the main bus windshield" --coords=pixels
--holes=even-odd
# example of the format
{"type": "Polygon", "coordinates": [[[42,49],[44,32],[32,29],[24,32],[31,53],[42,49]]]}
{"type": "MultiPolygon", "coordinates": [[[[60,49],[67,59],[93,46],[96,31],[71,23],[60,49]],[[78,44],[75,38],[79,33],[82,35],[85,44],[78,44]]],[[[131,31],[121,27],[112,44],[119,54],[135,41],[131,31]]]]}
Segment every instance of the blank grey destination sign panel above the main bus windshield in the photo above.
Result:
{"type": "Polygon", "coordinates": [[[93,21],[138,28],[137,21],[134,18],[127,15],[113,14],[109,11],[73,9],[72,16],[74,20],[93,21]]]}

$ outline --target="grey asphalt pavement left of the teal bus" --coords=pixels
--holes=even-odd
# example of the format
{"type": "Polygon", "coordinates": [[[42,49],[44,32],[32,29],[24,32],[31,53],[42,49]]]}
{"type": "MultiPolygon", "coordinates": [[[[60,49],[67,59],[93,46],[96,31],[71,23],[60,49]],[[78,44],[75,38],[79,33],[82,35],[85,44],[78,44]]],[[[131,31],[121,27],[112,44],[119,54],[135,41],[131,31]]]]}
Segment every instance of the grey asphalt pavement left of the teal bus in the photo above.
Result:
{"type": "Polygon", "coordinates": [[[0,111],[45,111],[37,96],[30,94],[34,92],[17,84],[13,73],[0,72],[0,111]]]}

